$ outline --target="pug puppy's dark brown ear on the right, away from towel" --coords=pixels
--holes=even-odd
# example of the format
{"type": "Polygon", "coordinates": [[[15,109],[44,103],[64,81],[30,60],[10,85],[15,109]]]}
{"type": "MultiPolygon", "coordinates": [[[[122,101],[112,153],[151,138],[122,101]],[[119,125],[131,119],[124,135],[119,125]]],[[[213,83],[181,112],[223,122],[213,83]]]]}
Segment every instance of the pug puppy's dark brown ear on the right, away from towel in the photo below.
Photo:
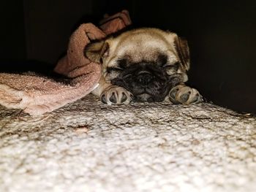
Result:
{"type": "Polygon", "coordinates": [[[188,71],[190,66],[190,55],[189,55],[189,45],[187,40],[181,37],[176,37],[174,39],[174,45],[178,53],[178,57],[181,60],[182,67],[188,71]]]}

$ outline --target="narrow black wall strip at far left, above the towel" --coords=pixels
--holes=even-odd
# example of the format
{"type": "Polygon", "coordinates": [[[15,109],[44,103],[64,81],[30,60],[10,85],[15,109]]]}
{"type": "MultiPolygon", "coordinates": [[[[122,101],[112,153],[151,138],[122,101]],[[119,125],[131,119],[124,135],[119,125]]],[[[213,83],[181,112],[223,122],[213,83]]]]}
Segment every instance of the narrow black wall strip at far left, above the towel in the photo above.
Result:
{"type": "Polygon", "coordinates": [[[10,63],[26,59],[23,1],[1,1],[0,22],[0,61],[10,63]]]}

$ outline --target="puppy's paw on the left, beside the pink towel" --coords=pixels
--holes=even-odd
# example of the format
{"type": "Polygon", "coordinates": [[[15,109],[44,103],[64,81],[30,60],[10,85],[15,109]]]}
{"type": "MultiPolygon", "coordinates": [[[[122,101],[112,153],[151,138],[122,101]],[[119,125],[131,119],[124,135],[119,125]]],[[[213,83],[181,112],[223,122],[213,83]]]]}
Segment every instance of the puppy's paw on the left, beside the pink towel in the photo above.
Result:
{"type": "Polygon", "coordinates": [[[129,104],[132,101],[132,93],[115,85],[106,88],[100,97],[104,104],[129,104]]]}

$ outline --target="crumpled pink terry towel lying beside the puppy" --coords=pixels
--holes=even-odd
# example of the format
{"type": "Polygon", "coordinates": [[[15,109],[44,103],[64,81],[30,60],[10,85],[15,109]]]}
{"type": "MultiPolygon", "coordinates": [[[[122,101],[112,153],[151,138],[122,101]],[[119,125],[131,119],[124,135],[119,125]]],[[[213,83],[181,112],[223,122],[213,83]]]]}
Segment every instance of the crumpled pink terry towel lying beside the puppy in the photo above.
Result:
{"type": "Polygon", "coordinates": [[[101,66],[84,56],[84,47],[91,40],[102,39],[130,23],[129,13],[122,11],[102,20],[99,28],[92,23],[82,24],[69,39],[67,55],[54,69],[63,75],[59,80],[33,72],[0,73],[0,104],[41,115],[86,96],[97,85],[101,66]]]}

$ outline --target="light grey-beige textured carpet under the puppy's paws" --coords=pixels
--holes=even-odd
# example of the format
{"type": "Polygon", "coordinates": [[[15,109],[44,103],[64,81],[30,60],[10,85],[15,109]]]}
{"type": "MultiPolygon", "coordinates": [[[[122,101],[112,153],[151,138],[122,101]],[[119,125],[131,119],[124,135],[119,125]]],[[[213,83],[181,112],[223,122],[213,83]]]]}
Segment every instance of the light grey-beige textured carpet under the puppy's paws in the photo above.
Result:
{"type": "Polygon", "coordinates": [[[214,104],[0,107],[0,191],[256,191],[256,118],[214,104]]]}

